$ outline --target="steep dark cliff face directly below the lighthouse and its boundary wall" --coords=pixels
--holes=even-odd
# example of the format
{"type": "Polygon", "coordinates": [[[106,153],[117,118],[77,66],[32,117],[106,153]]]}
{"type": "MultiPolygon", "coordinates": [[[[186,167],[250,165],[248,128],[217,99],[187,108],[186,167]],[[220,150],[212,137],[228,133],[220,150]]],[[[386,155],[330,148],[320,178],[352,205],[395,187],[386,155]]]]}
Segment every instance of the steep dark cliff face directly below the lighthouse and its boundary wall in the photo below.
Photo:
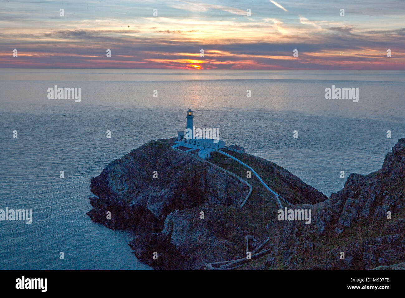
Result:
{"type": "MultiPolygon", "coordinates": [[[[209,163],[170,148],[173,139],[151,141],[112,161],[91,180],[88,214],[111,229],[161,227],[167,214],[199,204],[241,204],[247,184],[209,163]],[[157,177],[153,178],[154,171],[157,177]],[[111,212],[111,219],[106,213],[111,212]]],[[[174,143],[173,143],[174,144],[174,143]]]]}

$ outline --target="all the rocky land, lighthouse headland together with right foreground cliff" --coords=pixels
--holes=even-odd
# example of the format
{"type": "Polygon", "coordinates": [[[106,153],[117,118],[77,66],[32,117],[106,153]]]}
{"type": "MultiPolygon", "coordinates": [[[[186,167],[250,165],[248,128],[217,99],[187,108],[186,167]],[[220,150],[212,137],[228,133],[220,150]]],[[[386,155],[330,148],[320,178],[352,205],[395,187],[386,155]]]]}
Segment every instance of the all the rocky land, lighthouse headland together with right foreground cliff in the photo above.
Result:
{"type": "Polygon", "coordinates": [[[247,178],[243,165],[218,153],[203,161],[173,144],[150,141],[91,180],[95,196],[87,214],[110,229],[133,229],[130,247],[141,261],[158,269],[203,269],[246,257],[245,236],[253,235],[252,251],[269,238],[260,247],[269,253],[237,269],[403,268],[405,139],[381,170],[351,174],[329,198],[275,163],[228,152],[292,204],[283,206],[311,209],[311,224],[278,221],[274,196],[256,177],[247,178]]]}

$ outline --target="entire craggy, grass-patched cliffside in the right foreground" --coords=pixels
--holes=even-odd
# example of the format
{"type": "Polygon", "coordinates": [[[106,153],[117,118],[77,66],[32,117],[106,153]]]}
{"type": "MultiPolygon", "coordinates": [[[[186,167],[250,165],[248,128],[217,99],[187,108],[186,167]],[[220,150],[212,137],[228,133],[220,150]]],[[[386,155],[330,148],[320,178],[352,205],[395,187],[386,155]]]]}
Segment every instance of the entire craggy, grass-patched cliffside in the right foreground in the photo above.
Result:
{"type": "Polygon", "coordinates": [[[398,269],[401,266],[391,265],[405,261],[404,207],[405,139],[399,139],[382,169],[366,176],[350,174],[344,188],[328,200],[302,206],[312,209],[313,224],[280,228],[279,249],[289,251],[282,267],[398,269]],[[314,251],[317,246],[323,248],[314,251]]]}

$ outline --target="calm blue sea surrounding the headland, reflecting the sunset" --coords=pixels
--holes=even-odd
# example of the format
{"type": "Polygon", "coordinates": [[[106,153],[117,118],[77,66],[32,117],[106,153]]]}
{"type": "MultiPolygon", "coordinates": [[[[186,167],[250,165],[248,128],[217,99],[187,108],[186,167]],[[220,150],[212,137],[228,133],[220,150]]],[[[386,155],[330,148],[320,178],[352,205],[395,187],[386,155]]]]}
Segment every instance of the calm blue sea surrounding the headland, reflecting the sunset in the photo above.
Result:
{"type": "Polygon", "coordinates": [[[0,269],[150,269],[131,253],[131,232],[85,214],[90,178],[175,136],[189,107],[197,127],[326,195],[343,187],[340,171],[376,171],[405,137],[405,71],[0,69],[0,90],[0,209],[33,210],[32,224],[0,222],[0,269]],[[47,99],[54,85],[81,88],[81,102],[47,99]],[[358,103],[326,100],[332,85],[359,88],[358,103]]]}

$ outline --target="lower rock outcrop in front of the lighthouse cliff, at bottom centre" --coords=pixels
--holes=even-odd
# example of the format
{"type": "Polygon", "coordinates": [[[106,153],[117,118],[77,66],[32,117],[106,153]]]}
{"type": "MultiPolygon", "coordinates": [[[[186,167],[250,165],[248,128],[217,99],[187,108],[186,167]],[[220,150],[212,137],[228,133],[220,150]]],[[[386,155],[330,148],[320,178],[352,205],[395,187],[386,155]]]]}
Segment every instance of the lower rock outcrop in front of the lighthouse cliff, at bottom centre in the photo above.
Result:
{"type": "Polygon", "coordinates": [[[234,223],[225,223],[222,208],[175,210],[166,217],[162,232],[137,236],[130,247],[138,259],[156,268],[203,269],[207,263],[232,259],[241,253],[244,235],[234,223]],[[200,210],[208,220],[200,219],[200,210]],[[225,239],[229,231],[232,241],[225,239]]]}

